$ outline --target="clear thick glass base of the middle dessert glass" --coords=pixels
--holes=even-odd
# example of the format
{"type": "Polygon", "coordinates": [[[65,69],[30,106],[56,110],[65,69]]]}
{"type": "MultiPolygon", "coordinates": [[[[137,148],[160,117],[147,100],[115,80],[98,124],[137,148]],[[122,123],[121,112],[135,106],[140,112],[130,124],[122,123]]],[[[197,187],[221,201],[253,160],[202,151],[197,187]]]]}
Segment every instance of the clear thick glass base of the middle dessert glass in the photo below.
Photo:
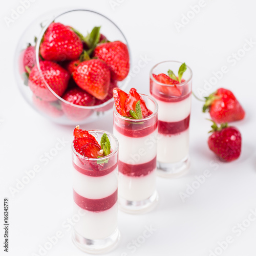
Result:
{"type": "Polygon", "coordinates": [[[142,201],[128,201],[121,197],[118,197],[118,207],[120,210],[127,212],[128,214],[145,214],[153,210],[158,202],[157,191],[154,194],[142,201]]]}

